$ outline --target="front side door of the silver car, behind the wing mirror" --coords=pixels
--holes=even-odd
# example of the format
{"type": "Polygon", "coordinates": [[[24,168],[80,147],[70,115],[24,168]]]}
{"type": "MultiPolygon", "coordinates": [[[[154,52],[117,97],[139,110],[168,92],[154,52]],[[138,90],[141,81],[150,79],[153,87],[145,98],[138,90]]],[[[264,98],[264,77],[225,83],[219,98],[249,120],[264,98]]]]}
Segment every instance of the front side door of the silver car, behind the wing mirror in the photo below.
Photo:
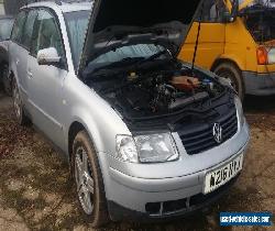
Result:
{"type": "Polygon", "coordinates": [[[28,58],[28,92],[33,123],[56,145],[63,147],[64,134],[59,111],[63,108],[62,89],[67,68],[61,29],[52,12],[40,9],[34,23],[31,52],[28,58]],[[38,65],[40,50],[54,47],[64,65],[38,65]]]}

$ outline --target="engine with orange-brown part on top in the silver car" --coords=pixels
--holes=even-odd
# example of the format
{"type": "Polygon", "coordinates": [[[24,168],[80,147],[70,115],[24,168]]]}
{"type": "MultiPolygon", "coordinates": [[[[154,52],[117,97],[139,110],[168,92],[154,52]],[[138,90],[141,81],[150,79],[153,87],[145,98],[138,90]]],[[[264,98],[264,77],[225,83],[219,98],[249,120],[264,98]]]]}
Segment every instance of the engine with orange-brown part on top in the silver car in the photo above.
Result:
{"type": "MultiPolygon", "coordinates": [[[[152,77],[141,80],[142,77],[136,73],[131,73],[127,78],[128,87],[117,91],[116,98],[120,105],[127,106],[128,110],[143,116],[172,112],[218,94],[212,82],[202,82],[186,75],[152,74],[152,77]]],[[[109,99],[112,97],[113,95],[107,95],[109,99]]]]}

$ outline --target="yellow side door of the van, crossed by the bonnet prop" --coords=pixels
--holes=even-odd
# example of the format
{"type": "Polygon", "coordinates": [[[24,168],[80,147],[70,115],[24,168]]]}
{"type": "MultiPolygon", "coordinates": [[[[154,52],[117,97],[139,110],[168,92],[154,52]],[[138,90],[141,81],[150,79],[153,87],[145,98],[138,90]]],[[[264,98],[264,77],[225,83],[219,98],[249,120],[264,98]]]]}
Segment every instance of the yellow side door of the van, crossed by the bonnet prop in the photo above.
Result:
{"type": "Polygon", "coordinates": [[[193,23],[183,45],[179,58],[191,63],[198,35],[198,25],[200,24],[200,34],[198,40],[198,50],[196,65],[204,68],[211,68],[211,65],[224,52],[226,43],[226,23],[223,22],[223,12],[227,11],[223,0],[206,0],[204,11],[197,13],[197,20],[193,23]]]}

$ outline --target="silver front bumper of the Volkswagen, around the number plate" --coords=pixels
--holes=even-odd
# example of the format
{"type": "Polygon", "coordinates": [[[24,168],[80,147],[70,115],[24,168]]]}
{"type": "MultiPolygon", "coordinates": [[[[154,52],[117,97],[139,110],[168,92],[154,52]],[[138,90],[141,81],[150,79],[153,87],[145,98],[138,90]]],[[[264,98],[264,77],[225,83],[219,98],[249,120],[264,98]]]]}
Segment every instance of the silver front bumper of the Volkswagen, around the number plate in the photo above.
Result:
{"type": "MultiPolygon", "coordinates": [[[[206,173],[223,166],[240,153],[244,153],[248,142],[249,129],[245,123],[228,142],[209,152],[191,156],[190,161],[196,160],[197,164],[190,162],[189,165],[194,165],[194,168],[189,166],[189,173],[179,174],[177,177],[167,176],[168,172],[179,173],[176,166],[169,168],[165,164],[162,165],[162,169],[154,165],[146,167],[140,165],[144,167],[139,169],[140,176],[136,176],[138,170],[134,168],[133,175],[129,175],[118,170],[120,168],[109,167],[108,176],[105,176],[105,186],[111,219],[114,221],[129,218],[154,220],[184,216],[205,208],[227,193],[238,178],[231,179],[209,195],[202,195],[206,173]],[[196,168],[199,170],[194,170],[196,168]],[[144,172],[147,172],[145,174],[150,177],[142,177],[144,172]],[[161,177],[156,177],[156,173],[161,177]],[[161,212],[154,212],[154,207],[158,205],[162,207],[161,212]]],[[[183,163],[170,164],[180,164],[182,168],[187,169],[185,164],[188,160],[183,161],[183,163]]]]}

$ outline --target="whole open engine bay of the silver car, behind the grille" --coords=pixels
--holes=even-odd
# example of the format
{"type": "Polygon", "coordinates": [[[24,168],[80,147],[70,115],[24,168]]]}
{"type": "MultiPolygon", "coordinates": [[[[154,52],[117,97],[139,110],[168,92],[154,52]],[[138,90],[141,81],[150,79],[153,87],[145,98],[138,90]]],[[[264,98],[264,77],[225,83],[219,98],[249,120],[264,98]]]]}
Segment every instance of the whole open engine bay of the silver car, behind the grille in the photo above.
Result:
{"type": "Polygon", "coordinates": [[[224,86],[206,74],[177,62],[156,63],[112,75],[101,72],[88,85],[127,119],[169,116],[197,108],[195,103],[210,107],[224,92],[224,86]]]}

